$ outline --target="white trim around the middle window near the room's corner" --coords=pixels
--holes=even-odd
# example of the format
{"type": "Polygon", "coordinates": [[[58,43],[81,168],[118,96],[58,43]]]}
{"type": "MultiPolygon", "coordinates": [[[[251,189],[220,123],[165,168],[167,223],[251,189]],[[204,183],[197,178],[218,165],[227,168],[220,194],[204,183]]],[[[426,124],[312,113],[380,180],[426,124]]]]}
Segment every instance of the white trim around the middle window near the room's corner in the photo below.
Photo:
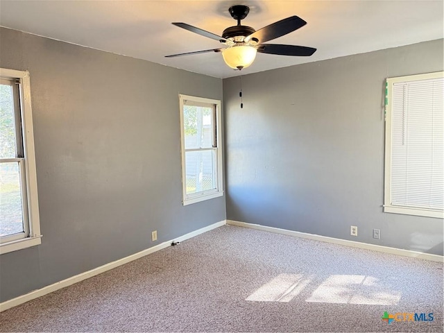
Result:
{"type": "Polygon", "coordinates": [[[182,147],[182,204],[184,206],[191,205],[192,203],[199,203],[200,201],[210,200],[212,198],[218,198],[223,196],[223,163],[222,163],[222,140],[221,140],[221,101],[216,99],[204,99],[202,97],[188,96],[179,94],[180,104],[180,142],[182,147]],[[184,119],[183,119],[183,106],[184,101],[195,101],[199,103],[208,103],[216,105],[216,146],[217,146],[217,178],[216,189],[210,191],[202,191],[196,194],[187,195],[186,185],[186,170],[185,170],[185,133],[184,133],[184,119]]]}

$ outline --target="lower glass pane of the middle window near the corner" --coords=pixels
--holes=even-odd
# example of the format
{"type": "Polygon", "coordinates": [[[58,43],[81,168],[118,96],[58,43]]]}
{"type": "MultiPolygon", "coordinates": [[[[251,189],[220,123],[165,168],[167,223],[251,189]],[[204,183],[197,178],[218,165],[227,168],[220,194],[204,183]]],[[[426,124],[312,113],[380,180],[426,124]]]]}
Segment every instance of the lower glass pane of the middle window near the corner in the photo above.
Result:
{"type": "Polygon", "coordinates": [[[185,153],[187,194],[216,189],[214,153],[214,150],[185,153]]]}

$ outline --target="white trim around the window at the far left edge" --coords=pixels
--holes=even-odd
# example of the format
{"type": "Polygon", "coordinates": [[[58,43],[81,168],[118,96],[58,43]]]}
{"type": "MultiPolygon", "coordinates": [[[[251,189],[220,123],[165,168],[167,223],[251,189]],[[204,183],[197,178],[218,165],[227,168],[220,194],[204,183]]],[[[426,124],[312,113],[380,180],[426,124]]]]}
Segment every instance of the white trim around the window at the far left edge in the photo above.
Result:
{"type": "Polygon", "coordinates": [[[42,234],[40,234],[39,203],[37,196],[37,173],[35,171],[35,151],[34,151],[34,128],[33,113],[31,109],[31,85],[28,71],[17,71],[14,69],[0,69],[0,77],[9,79],[19,79],[22,85],[20,92],[20,104],[22,112],[23,146],[26,171],[26,202],[28,205],[29,234],[13,235],[12,237],[2,237],[5,242],[0,244],[0,255],[23,248],[42,244],[42,234]],[[19,239],[18,239],[19,238],[19,239]]]}

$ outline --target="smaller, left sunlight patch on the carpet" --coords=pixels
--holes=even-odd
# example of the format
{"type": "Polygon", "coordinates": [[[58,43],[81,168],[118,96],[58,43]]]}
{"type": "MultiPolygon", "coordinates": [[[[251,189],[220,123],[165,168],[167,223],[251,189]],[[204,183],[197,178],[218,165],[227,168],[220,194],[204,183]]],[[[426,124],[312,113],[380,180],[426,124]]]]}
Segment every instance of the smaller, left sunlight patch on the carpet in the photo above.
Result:
{"type": "Polygon", "coordinates": [[[310,280],[302,274],[280,274],[252,293],[246,300],[255,302],[289,302],[310,280]]]}

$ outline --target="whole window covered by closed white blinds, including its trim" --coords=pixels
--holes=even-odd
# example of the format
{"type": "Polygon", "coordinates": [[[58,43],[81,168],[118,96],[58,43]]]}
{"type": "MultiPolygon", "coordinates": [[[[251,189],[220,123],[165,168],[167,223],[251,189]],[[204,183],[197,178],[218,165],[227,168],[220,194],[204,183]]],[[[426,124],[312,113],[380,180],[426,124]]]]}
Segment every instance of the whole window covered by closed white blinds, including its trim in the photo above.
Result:
{"type": "Polygon", "coordinates": [[[384,212],[443,218],[443,72],[388,78],[384,212]]]}

